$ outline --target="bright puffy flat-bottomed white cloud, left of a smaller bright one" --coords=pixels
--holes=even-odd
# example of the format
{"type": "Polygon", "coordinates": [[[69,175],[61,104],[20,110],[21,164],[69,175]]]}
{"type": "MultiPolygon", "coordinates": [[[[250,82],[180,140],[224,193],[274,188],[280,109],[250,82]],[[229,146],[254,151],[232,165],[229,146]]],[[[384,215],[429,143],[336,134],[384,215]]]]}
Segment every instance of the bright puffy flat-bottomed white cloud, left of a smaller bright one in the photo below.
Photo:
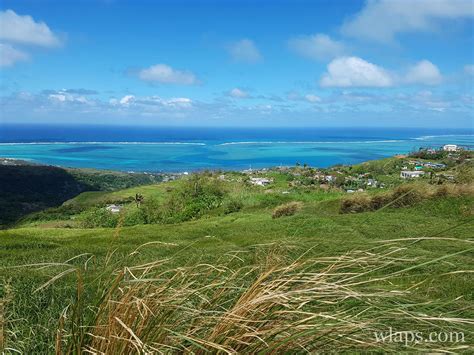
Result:
{"type": "Polygon", "coordinates": [[[320,81],[323,87],[388,87],[393,85],[383,68],[358,57],[340,57],[327,66],[320,81]]]}

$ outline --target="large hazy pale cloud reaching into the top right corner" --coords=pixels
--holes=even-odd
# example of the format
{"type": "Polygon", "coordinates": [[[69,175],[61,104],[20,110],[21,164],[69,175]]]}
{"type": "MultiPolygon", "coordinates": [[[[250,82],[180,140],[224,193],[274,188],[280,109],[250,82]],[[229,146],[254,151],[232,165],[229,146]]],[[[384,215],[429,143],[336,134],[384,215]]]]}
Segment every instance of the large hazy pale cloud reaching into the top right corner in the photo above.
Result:
{"type": "Polygon", "coordinates": [[[472,16],[472,0],[372,0],[344,23],[342,33],[390,42],[399,33],[434,31],[440,27],[440,20],[472,16]]]}

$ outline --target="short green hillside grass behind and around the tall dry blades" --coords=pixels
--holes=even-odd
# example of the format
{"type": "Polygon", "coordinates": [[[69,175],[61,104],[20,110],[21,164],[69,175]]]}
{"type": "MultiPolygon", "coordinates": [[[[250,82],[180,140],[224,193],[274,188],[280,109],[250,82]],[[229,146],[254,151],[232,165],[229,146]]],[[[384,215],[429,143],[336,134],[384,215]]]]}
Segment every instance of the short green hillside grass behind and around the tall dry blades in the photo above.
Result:
{"type": "MultiPolygon", "coordinates": [[[[375,247],[402,249],[396,263],[372,272],[367,276],[368,280],[405,270],[395,274],[390,282],[381,282],[378,286],[387,290],[392,287],[409,289],[408,298],[403,300],[405,306],[410,308],[409,302],[424,304],[421,308],[415,307],[415,311],[422,310],[439,317],[455,315],[472,321],[472,196],[439,197],[406,208],[341,214],[340,192],[290,189],[283,178],[280,180],[268,189],[226,182],[226,198],[243,201],[240,211],[227,215],[217,208],[199,219],[176,224],[82,229],[48,228],[51,221],[39,221],[35,225],[26,223],[0,231],[0,282],[3,285],[0,292],[9,300],[5,306],[7,346],[24,353],[54,352],[60,315],[68,305],[77,302],[77,274],[71,272],[48,287],[34,291],[71,268],[81,270],[82,297],[84,301],[92,302],[100,291],[99,285],[111,277],[113,270],[156,260],[166,259],[164,270],[193,268],[198,264],[227,265],[234,261],[241,266],[260,269],[262,259],[268,254],[275,254],[284,263],[291,263],[301,255],[302,261],[309,262],[375,247]],[[286,190],[290,193],[282,194],[286,190]],[[275,206],[291,201],[301,202],[301,208],[294,215],[272,219],[275,206]],[[391,240],[395,241],[389,242],[391,240]],[[443,259],[452,254],[455,256],[443,259]],[[72,259],[76,256],[79,257],[72,259]],[[238,260],[234,256],[238,256],[238,260]],[[432,262],[434,260],[436,262],[432,262]],[[39,265],[43,263],[45,265],[39,265]],[[49,263],[65,265],[46,265],[49,263]],[[412,268],[414,265],[418,266],[412,268]]],[[[143,194],[145,199],[153,197],[163,201],[180,183],[116,192],[85,192],[65,205],[88,208],[124,200],[136,193],[143,194]]],[[[132,203],[128,208],[136,206],[132,203]]],[[[356,272],[359,267],[351,266],[356,272]]],[[[311,271],[317,266],[310,263],[305,268],[311,271]]],[[[242,282],[250,283],[255,275],[242,277],[242,282]]],[[[198,283],[204,281],[198,279],[198,283]]],[[[356,300],[352,302],[355,302],[355,309],[360,306],[356,300]]],[[[396,303],[397,299],[382,302],[384,307],[392,308],[396,303]]],[[[345,303],[341,303],[341,307],[343,305],[345,307],[345,303]]],[[[458,324],[440,324],[441,328],[459,330],[458,324]]],[[[405,326],[413,324],[400,319],[395,325],[405,330],[405,326]]],[[[467,345],[473,346],[472,323],[466,324],[464,331],[470,336],[466,339],[467,345]]],[[[186,348],[187,345],[182,346],[186,348]]],[[[353,350],[364,350],[363,346],[352,346],[353,350]]],[[[404,350],[402,345],[397,349],[404,350]]]]}

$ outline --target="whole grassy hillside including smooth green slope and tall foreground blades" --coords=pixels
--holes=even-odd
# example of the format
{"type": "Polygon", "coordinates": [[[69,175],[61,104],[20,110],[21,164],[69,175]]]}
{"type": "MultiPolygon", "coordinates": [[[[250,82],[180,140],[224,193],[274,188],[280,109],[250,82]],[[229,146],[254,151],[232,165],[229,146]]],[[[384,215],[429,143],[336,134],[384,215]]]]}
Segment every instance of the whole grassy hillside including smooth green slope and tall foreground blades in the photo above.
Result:
{"type": "MultiPolygon", "coordinates": [[[[181,184],[85,192],[65,205],[136,193],[161,203],[181,184]]],[[[235,212],[132,226],[119,219],[115,228],[81,228],[74,216],[68,228],[26,219],[0,231],[5,351],[473,350],[472,195],[341,213],[336,190],[283,194],[277,176],[268,188],[223,185],[223,205],[242,203],[235,212]],[[272,218],[291,201],[300,206],[293,215],[272,218]],[[377,342],[374,332],[389,327],[464,338],[377,342]]],[[[130,202],[123,213],[139,208],[130,202]]]]}

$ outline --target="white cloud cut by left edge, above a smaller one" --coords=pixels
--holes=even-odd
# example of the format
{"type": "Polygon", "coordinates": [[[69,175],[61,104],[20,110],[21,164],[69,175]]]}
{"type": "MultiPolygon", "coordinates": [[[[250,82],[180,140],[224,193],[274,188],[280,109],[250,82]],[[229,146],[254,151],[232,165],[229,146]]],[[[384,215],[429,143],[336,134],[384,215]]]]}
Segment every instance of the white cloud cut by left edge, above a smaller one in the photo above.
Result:
{"type": "Polygon", "coordinates": [[[0,11],[0,39],[8,42],[55,47],[58,37],[44,22],[36,22],[31,16],[20,16],[12,10],[0,11]]]}

